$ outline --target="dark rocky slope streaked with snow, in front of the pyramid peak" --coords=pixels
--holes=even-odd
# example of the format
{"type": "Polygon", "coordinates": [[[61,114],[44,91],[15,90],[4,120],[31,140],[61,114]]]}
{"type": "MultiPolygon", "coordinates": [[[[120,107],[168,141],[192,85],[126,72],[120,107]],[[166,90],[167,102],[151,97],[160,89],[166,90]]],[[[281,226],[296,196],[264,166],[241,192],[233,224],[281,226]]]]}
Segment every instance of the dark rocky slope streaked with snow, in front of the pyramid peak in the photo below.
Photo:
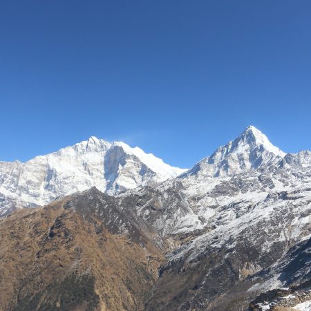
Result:
{"type": "Polygon", "coordinates": [[[215,212],[213,229],[167,254],[147,310],[244,310],[259,292],[288,283],[279,273],[265,282],[260,272],[310,238],[311,187],[234,198],[215,212]]]}

